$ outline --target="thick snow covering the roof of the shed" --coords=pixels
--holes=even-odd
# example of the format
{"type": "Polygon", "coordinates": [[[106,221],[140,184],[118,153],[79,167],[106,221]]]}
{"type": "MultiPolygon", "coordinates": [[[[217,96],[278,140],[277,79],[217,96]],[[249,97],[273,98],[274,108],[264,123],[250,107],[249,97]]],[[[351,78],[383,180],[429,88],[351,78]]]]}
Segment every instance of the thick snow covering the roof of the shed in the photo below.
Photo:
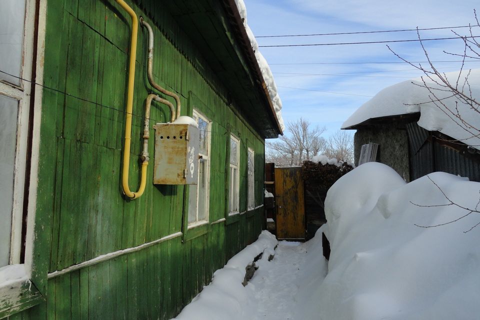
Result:
{"type": "MultiPolygon", "coordinates": [[[[467,75],[469,88],[465,86],[464,90],[468,92],[468,95],[471,90],[471,97],[480,101],[478,100],[480,97],[480,69],[463,70],[461,73],[459,71],[444,73],[445,78],[452,84],[458,78],[460,86],[464,83],[467,75]]],[[[450,91],[441,86],[441,82],[433,79],[423,77],[425,84],[431,88],[441,103],[432,101],[434,100],[432,93],[424,87],[422,78],[414,78],[391,85],[378,92],[353,112],[343,122],[341,128],[354,128],[373,118],[420,112],[417,123],[421,127],[429,131],[439,131],[480,149],[480,137],[477,136],[478,129],[480,129],[479,110],[475,110],[464,100],[453,96],[450,91]],[[456,113],[458,114],[456,115],[456,113]],[[462,123],[460,118],[467,120],[469,125],[462,123]]]]}

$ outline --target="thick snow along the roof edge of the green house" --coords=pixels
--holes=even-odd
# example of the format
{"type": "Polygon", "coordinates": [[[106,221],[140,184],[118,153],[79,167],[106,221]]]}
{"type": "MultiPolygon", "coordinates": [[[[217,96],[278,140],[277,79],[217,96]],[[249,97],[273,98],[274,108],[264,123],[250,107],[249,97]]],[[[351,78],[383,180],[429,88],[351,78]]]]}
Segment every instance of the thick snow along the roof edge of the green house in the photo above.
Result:
{"type": "Polygon", "coordinates": [[[273,104],[273,109],[275,110],[275,115],[278,119],[278,124],[280,125],[280,129],[282,131],[285,130],[285,125],[283,123],[283,118],[281,116],[281,100],[278,96],[278,91],[276,88],[275,80],[273,79],[273,74],[271,73],[270,67],[266,62],[263,55],[258,50],[258,43],[256,42],[255,36],[251,31],[250,27],[247,24],[246,19],[246,6],[243,0],[234,0],[235,4],[238,8],[238,12],[240,12],[240,17],[243,20],[243,25],[245,26],[246,34],[248,35],[248,39],[250,40],[250,45],[255,53],[256,61],[258,62],[258,66],[260,67],[261,74],[263,76],[263,80],[265,81],[266,87],[268,89],[268,94],[270,96],[271,103],[273,104]]]}

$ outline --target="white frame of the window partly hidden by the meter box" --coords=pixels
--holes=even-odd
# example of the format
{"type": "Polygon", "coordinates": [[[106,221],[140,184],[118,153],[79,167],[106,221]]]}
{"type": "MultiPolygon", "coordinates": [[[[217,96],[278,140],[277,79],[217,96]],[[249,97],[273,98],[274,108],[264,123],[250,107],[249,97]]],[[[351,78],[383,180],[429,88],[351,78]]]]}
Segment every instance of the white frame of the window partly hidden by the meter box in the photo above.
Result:
{"type": "MultiPolygon", "coordinates": [[[[199,219],[198,218],[198,199],[199,199],[199,192],[198,192],[198,182],[199,182],[199,177],[200,177],[200,170],[198,169],[198,172],[197,172],[197,184],[196,185],[190,185],[190,194],[189,194],[189,197],[192,197],[194,196],[195,197],[195,206],[194,206],[194,210],[195,210],[195,220],[194,221],[188,221],[188,228],[192,228],[192,227],[195,227],[195,226],[198,226],[198,225],[203,225],[205,223],[208,223],[208,216],[209,216],[209,207],[210,207],[210,197],[209,197],[209,194],[210,194],[210,145],[211,145],[211,121],[206,117],[204,116],[202,113],[200,113],[198,110],[196,109],[193,109],[193,118],[196,118],[196,122],[198,123],[198,119],[202,119],[203,121],[205,121],[207,123],[207,131],[208,131],[208,139],[207,139],[207,145],[206,145],[206,153],[207,154],[204,154],[204,153],[201,153],[201,152],[198,152],[198,168],[200,168],[200,157],[201,157],[201,160],[204,160],[206,161],[206,166],[204,168],[205,170],[205,176],[206,176],[206,181],[205,181],[205,184],[206,184],[206,189],[205,189],[205,217],[203,219],[199,219]],[[194,189],[194,192],[193,192],[193,189],[194,189]]],[[[190,216],[190,210],[192,210],[193,208],[189,205],[188,206],[188,217],[190,216]]]]}

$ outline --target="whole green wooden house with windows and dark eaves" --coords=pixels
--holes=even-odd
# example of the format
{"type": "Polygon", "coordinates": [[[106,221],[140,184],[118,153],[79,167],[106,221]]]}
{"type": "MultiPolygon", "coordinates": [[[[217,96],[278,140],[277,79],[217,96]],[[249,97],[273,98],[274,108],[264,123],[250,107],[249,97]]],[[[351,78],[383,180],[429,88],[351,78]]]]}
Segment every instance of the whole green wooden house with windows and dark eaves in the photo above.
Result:
{"type": "Polygon", "coordinates": [[[0,318],[168,319],[262,229],[281,129],[235,2],[122,2],[0,1],[0,318]],[[178,115],[195,181],[153,183],[178,115]]]}

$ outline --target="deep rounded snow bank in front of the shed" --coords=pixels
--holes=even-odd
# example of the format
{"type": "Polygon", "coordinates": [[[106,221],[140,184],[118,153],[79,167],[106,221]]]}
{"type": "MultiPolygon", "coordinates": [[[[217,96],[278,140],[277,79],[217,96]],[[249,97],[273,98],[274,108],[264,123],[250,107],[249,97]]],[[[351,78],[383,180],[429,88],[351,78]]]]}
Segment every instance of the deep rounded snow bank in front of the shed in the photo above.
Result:
{"type": "Polygon", "coordinates": [[[468,213],[446,205],[435,183],[453,202],[478,205],[478,182],[436,172],[406,184],[377,162],[358,166],[330,188],[325,200],[329,271],[319,283],[318,303],[303,318],[480,317],[480,226],[464,233],[480,215],[415,226],[468,213]]]}

